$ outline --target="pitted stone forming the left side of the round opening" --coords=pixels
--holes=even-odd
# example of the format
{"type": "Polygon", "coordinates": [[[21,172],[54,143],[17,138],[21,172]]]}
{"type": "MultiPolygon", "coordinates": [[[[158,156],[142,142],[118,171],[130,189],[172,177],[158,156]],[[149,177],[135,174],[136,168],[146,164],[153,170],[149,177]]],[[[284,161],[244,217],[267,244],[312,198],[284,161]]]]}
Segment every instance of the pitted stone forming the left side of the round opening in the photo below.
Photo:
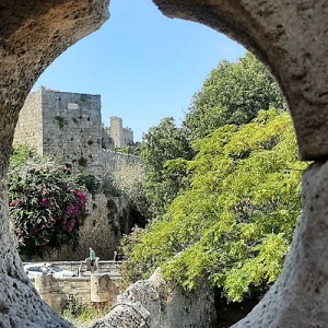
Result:
{"type": "Polygon", "coordinates": [[[44,69],[108,17],[108,0],[0,1],[0,327],[70,327],[42,302],[9,237],[4,178],[25,96],[44,69]]]}

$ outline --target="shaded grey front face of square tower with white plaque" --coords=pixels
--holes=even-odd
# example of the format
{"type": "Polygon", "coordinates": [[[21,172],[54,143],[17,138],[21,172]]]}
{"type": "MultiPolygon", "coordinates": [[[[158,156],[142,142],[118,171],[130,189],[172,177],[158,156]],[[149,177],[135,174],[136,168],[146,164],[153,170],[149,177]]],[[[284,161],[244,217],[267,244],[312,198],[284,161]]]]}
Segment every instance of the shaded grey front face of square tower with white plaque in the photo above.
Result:
{"type": "Polygon", "coordinates": [[[44,154],[63,153],[63,161],[99,176],[101,96],[45,90],[43,113],[44,154]]]}

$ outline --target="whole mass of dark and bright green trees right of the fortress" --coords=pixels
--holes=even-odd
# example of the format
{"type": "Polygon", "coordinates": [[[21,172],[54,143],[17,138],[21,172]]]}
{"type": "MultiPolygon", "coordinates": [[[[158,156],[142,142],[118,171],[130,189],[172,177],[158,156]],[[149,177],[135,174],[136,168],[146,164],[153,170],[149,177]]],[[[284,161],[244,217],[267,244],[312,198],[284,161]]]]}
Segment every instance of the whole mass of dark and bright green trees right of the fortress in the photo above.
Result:
{"type": "Polygon", "coordinates": [[[163,119],[145,134],[141,156],[152,216],[122,241],[125,279],[148,278],[161,266],[187,291],[206,278],[229,301],[266,292],[301,213],[306,164],[263,66],[251,54],[221,62],[183,127],[163,119]]]}

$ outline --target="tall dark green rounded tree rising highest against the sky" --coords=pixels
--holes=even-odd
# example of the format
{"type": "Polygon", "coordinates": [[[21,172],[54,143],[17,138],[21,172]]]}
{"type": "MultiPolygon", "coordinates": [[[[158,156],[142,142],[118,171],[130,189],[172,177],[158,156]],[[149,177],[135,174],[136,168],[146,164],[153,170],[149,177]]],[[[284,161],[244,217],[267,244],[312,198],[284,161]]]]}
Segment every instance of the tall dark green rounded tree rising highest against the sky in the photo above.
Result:
{"type": "Polygon", "coordinates": [[[194,96],[184,127],[191,140],[227,124],[251,121],[260,109],[284,108],[282,94],[267,69],[247,52],[237,62],[222,61],[194,96]]]}

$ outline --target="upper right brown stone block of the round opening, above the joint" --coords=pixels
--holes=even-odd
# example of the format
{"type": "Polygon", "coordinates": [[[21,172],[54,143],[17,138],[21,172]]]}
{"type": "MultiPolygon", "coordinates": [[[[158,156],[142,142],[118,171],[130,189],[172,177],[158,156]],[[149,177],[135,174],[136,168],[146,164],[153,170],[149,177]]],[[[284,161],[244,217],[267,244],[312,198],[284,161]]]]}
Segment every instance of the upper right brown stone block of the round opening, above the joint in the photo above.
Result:
{"type": "Polygon", "coordinates": [[[171,17],[200,22],[253,50],[283,90],[301,157],[328,157],[327,0],[153,2],[171,17]]]}

